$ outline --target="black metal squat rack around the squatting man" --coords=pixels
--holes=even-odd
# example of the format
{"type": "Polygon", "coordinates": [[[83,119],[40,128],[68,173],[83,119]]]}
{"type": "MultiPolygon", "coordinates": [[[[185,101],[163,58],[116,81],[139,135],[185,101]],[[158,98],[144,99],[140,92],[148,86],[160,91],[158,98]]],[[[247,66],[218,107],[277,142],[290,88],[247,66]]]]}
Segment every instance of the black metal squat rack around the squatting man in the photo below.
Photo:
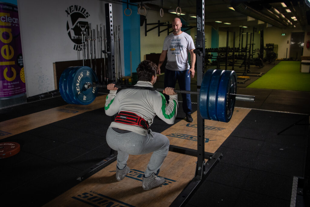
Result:
{"type": "MultiPolygon", "coordinates": [[[[202,78],[204,75],[205,65],[205,32],[204,32],[204,0],[197,0],[197,39],[196,54],[197,63],[197,92],[200,92],[202,78]]],[[[113,36],[113,17],[112,17],[112,4],[105,4],[105,17],[106,17],[106,37],[107,37],[107,50],[103,51],[108,55],[108,70],[109,79],[112,83],[116,83],[115,78],[115,56],[114,56],[114,36],[113,36]],[[109,27],[110,25],[110,27],[109,27]]],[[[169,30],[169,29],[168,29],[169,30]]],[[[169,33],[168,33],[169,34],[169,33]]],[[[197,95],[198,106],[200,104],[199,94],[197,95]]],[[[113,117],[112,117],[113,119],[113,117]]],[[[114,120],[114,119],[113,119],[114,120]]],[[[200,109],[197,107],[197,150],[170,145],[169,151],[197,156],[197,165],[194,178],[188,183],[184,190],[175,198],[170,206],[181,206],[185,200],[193,193],[197,187],[205,180],[211,170],[215,167],[215,164],[219,162],[222,157],[222,153],[205,152],[205,120],[200,115],[200,109]],[[206,162],[205,159],[208,159],[206,162]]],[[[82,181],[96,172],[100,171],[104,167],[114,162],[117,158],[117,152],[111,150],[109,157],[100,161],[92,166],[89,170],[84,171],[77,180],[82,181]]]]}

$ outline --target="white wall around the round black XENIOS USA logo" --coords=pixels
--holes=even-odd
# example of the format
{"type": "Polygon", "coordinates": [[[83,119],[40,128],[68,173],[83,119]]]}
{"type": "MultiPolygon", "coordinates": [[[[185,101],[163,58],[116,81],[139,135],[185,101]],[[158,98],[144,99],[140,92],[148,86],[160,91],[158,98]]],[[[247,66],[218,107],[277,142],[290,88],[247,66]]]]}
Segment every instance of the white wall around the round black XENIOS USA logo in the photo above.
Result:
{"type": "MultiPolygon", "coordinates": [[[[67,16],[66,10],[72,5],[85,8],[89,13],[86,21],[95,29],[96,25],[105,25],[104,4],[107,2],[111,1],[19,0],[17,2],[27,97],[55,90],[53,62],[78,60],[77,51],[73,49],[74,43],[69,38],[66,28],[70,17],[67,16]]],[[[121,25],[122,28],[122,4],[111,3],[113,23],[121,25]]],[[[121,39],[123,39],[122,29],[121,39]]],[[[123,48],[122,41],[121,48],[123,48]]]]}

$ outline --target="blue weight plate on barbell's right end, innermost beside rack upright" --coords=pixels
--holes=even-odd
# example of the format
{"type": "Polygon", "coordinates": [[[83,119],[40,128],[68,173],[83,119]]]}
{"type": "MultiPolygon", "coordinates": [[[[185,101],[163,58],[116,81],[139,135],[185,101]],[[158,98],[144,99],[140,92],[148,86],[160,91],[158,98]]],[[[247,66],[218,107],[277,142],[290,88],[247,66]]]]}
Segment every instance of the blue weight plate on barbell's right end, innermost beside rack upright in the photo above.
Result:
{"type": "Polygon", "coordinates": [[[210,119],[208,113],[208,97],[209,97],[209,88],[212,74],[215,72],[215,69],[207,70],[203,76],[200,95],[199,95],[199,110],[202,119],[210,119]]]}

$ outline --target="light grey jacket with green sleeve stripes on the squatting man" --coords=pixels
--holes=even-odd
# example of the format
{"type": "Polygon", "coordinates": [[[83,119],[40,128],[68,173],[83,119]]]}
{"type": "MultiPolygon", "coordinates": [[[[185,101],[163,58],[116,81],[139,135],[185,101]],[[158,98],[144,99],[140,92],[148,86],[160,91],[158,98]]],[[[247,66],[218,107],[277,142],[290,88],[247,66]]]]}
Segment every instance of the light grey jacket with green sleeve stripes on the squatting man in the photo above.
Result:
{"type": "MultiPolygon", "coordinates": [[[[138,81],[135,86],[153,88],[152,83],[148,81],[138,81]]],[[[150,126],[157,115],[167,124],[173,124],[178,109],[178,95],[169,97],[169,104],[167,104],[164,95],[158,91],[127,88],[117,93],[111,90],[105,101],[105,114],[113,116],[119,111],[133,112],[148,121],[150,126]]],[[[140,126],[112,122],[109,127],[126,129],[142,135],[147,134],[147,130],[140,126]]]]}

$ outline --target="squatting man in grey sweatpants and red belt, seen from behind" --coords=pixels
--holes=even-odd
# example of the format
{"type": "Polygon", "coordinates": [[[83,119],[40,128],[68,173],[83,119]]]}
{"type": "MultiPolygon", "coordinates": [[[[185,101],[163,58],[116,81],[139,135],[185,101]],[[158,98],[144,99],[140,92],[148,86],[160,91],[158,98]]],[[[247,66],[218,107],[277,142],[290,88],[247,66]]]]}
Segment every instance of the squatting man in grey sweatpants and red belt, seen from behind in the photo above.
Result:
{"type": "MultiPolygon", "coordinates": [[[[138,82],[135,86],[153,88],[156,82],[157,65],[152,61],[142,61],[137,68],[138,82]]],[[[105,101],[105,114],[115,120],[107,130],[107,143],[117,151],[116,179],[125,178],[130,172],[127,166],[128,155],[142,155],[153,152],[142,178],[144,190],[161,186],[165,178],[157,177],[159,168],[168,154],[169,139],[152,132],[149,126],[157,115],[167,124],[173,124],[178,109],[178,95],[174,88],[165,88],[163,93],[170,97],[169,104],[158,91],[148,89],[123,89],[117,92],[114,84],[108,84],[110,90],[105,101]]]]}

